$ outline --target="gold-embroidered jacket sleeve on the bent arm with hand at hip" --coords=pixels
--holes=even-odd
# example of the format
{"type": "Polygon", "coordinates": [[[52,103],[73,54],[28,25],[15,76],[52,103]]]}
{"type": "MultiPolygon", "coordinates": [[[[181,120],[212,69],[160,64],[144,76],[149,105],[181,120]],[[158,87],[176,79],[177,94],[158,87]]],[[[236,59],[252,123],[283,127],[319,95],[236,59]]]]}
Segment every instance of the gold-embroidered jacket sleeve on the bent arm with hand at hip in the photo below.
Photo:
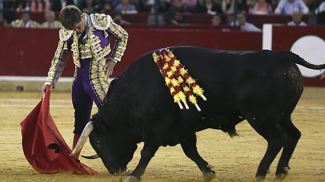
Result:
{"type": "Polygon", "coordinates": [[[106,31],[109,34],[112,34],[116,39],[111,58],[115,62],[121,61],[121,58],[126,49],[126,44],[128,42],[129,35],[120,25],[114,23],[112,18],[111,18],[110,26],[106,31]]]}

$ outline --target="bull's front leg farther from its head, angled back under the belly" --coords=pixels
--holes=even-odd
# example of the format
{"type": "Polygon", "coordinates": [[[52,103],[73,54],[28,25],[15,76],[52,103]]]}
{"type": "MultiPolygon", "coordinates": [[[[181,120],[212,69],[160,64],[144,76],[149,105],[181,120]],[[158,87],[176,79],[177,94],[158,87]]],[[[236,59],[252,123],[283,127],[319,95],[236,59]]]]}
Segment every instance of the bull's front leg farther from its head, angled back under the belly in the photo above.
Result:
{"type": "Polygon", "coordinates": [[[200,156],[196,148],[196,135],[193,134],[181,143],[185,155],[193,160],[203,173],[203,181],[210,181],[215,177],[211,166],[200,156]]]}

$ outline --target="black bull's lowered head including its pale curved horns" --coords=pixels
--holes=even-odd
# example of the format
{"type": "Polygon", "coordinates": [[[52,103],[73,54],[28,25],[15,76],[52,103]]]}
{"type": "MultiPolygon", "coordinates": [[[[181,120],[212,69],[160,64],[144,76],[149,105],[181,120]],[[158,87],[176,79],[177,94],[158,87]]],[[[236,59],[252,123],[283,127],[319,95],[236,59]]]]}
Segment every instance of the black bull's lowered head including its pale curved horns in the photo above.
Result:
{"type": "Polygon", "coordinates": [[[123,136],[114,135],[114,133],[100,133],[94,129],[93,123],[90,121],[83,130],[70,156],[78,153],[88,136],[90,144],[97,152],[97,155],[86,158],[100,157],[111,174],[128,174],[127,164],[131,161],[137,148],[136,143],[126,142],[123,136]]]}

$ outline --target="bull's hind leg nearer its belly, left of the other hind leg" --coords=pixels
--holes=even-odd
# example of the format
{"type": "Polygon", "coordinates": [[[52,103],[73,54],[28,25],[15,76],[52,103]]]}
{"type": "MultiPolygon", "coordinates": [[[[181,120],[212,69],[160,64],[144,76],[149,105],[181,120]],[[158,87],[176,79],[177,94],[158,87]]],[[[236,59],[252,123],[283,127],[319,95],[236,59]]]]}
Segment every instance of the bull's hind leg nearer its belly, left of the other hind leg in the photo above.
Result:
{"type": "Polygon", "coordinates": [[[267,141],[267,149],[256,172],[256,181],[262,181],[266,173],[269,172],[269,166],[280,152],[288,138],[277,119],[253,117],[248,119],[249,124],[267,141]]]}

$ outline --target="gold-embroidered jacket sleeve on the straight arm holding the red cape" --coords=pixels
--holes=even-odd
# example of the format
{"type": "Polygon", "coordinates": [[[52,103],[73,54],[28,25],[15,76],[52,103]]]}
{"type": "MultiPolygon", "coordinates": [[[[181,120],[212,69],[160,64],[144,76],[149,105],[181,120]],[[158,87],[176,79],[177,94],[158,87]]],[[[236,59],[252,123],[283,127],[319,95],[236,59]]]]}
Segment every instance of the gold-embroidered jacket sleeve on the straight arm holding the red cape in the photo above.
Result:
{"type": "Polygon", "coordinates": [[[51,66],[47,73],[46,82],[44,83],[45,85],[50,84],[54,88],[57,81],[59,80],[67,62],[69,55],[68,53],[71,49],[71,46],[68,44],[69,41],[59,41],[57,51],[51,61],[51,66]]]}

